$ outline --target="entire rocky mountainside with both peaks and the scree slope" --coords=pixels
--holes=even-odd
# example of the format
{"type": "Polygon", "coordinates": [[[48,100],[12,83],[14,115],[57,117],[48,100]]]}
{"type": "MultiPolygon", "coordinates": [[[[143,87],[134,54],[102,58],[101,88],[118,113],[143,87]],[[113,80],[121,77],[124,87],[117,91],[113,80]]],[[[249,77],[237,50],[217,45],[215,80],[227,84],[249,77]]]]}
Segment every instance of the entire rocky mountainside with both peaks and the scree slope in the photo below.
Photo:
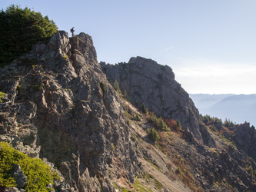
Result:
{"type": "MultiPolygon", "coordinates": [[[[58,31],[48,43],[38,42],[1,68],[0,79],[0,144],[41,158],[58,173],[45,190],[256,187],[256,164],[246,154],[251,151],[239,151],[201,122],[168,66],[141,57],[99,64],[91,36],[68,38],[58,31]]],[[[255,132],[254,127],[248,130],[255,132]]],[[[24,176],[25,170],[19,172],[24,176]]],[[[0,182],[0,189],[11,190],[0,182]]]]}

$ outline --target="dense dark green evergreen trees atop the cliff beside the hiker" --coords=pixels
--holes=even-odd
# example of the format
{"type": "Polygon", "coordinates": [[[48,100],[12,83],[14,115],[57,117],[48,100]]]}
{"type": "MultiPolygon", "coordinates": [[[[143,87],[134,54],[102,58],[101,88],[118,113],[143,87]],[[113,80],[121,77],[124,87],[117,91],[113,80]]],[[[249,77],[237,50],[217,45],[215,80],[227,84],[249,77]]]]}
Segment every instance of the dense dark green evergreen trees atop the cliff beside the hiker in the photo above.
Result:
{"type": "Polygon", "coordinates": [[[50,38],[58,31],[48,16],[17,5],[0,12],[0,26],[0,66],[8,65],[38,41],[50,38]]]}

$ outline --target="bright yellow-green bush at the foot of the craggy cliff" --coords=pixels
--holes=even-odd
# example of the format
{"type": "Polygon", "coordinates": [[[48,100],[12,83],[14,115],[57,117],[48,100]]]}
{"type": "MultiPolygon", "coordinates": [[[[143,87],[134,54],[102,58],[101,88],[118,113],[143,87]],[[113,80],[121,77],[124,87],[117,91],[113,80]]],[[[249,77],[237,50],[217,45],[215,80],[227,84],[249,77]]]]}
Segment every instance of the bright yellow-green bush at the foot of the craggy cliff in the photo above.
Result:
{"type": "Polygon", "coordinates": [[[14,164],[18,164],[28,177],[26,191],[51,191],[48,184],[53,184],[54,179],[59,179],[58,174],[51,170],[41,159],[33,159],[22,152],[15,150],[10,144],[0,142],[0,185],[15,187],[16,181],[12,177],[14,164]]]}

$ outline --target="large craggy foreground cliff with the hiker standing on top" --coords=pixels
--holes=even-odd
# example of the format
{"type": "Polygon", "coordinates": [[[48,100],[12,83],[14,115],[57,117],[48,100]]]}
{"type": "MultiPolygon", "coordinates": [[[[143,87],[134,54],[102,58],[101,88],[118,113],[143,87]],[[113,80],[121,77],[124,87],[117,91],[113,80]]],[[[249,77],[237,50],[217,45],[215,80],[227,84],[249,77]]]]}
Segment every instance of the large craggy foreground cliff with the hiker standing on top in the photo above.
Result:
{"type": "Polygon", "coordinates": [[[133,180],[135,144],[89,35],[68,38],[59,31],[47,45],[35,45],[0,70],[1,91],[7,94],[0,106],[0,141],[47,158],[72,190],[113,190],[107,177],[111,164],[122,167],[112,174],[133,180]]]}

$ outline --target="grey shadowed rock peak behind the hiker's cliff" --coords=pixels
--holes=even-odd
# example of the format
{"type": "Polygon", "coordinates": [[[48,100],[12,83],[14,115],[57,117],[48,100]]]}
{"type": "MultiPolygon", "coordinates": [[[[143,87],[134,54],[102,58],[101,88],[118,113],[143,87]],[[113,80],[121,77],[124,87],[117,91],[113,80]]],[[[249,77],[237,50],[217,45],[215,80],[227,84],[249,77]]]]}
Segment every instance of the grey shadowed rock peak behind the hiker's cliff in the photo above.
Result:
{"type": "Polygon", "coordinates": [[[163,118],[178,119],[199,141],[203,141],[199,129],[199,113],[188,93],[175,81],[175,74],[167,65],[158,65],[147,58],[131,58],[128,63],[106,65],[100,63],[108,81],[118,81],[132,103],[145,104],[163,118]]]}

